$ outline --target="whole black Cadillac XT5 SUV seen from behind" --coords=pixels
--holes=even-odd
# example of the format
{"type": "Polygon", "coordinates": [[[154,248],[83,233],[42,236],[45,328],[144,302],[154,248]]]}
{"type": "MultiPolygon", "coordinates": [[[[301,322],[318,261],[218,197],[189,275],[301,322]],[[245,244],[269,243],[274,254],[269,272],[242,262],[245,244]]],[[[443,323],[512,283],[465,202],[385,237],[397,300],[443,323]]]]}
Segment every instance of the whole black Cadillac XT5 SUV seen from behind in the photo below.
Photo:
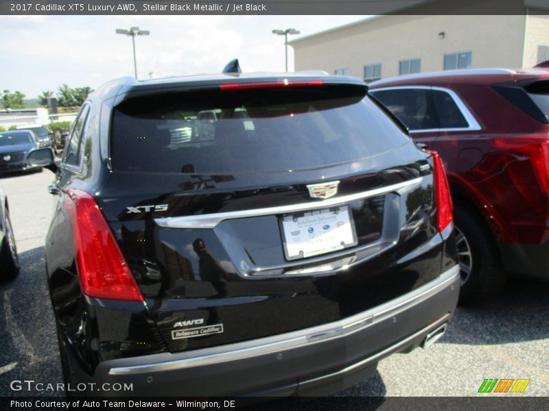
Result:
{"type": "Polygon", "coordinates": [[[52,160],[32,155],[58,167],[45,255],[67,382],[330,393],[456,307],[441,160],[360,79],[115,80],[52,160]]]}

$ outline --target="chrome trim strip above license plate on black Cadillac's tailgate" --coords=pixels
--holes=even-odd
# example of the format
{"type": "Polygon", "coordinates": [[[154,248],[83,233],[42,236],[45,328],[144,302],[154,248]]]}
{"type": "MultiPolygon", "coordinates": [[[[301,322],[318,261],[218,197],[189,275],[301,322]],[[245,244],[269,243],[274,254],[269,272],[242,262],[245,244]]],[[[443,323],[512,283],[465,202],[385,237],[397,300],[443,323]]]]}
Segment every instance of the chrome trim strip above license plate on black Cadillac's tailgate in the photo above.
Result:
{"type": "Polygon", "coordinates": [[[417,177],[407,182],[393,184],[391,186],[375,188],[374,190],[368,190],[364,192],[358,192],[356,194],[344,195],[342,197],[325,199],[323,201],[314,201],[312,203],[292,204],[290,206],[278,206],[268,208],[256,208],[255,210],[239,210],[220,212],[216,214],[198,214],[192,216],[181,217],[163,217],[161,219],[154,219],[154,222],[161,227],[166,228],[215,228],[216,225],[224,220],[231,219],[246,219],[248,217],[268,216],[273,214],[285,214],[293,212],[301,212],[307,210],[318,210],[319,208],[328,208],[332,206],[338,206],[343,203],[349,203],[350,201],[361,200],[367,197],[374,197],[376,195],[385,194],[386,192],[398,191],[409,186],[417,186],[421,184],[423,177],[417,177]]]}

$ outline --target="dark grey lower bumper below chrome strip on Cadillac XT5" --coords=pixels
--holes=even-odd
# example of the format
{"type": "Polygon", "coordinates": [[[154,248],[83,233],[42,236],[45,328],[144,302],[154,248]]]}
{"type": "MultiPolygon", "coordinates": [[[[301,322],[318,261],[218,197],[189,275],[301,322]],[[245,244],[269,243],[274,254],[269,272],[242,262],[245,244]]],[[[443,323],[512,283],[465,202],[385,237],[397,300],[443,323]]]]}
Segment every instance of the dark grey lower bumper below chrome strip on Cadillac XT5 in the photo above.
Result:
{"type": "MultiPolygon", "coordinates": [[[[430,301],[414,305],[410,310],[404,310],[395,316],[390,316],[372,327],[351,334],[348,338],[329,338],[320,340],[314,345],[298,347],[281,351],[280,356],[272,353],[252,358],[242,358],[220,364],[197,366],[185,372],[182,370],[166,370],[163,372],[142,373],[139,375],[110,375],[109,371],[116,366],[132,366],[141,364],[159,364],[167,360],[180,360],[186,352],[175,354],[159,354],[147,358],[126,358],[103,362],[97,368],[94,382],[132,383],[139,395],[159,397],[172,396],[233,396],[250,395],[260,397],[277,397],[299,395],[303,397],[321,396],[342,390],[359,382],[375,372],[377,360],[370,361],[369,355],[385,351],[389,341],[402,341],[410,337],[418,329],[432,324],[430,329],[447,321],[445,314],[452,312],[456,306],[456,290],[459,279],[439,292],[430,301]],[[274,358],[278,357],[277,360],[274,358]],[[361,368],[347,368],[349,365],[362,362],[361,368]],[[347,369],[344,378],[331,373],[347,369]],[[268,370],[268,371],[266,371],[268,370]],[[327,378],[318,376],[329,375],[327,378]],[[148,383],[152,378],[156,384],[148,383]]],[[[399,347],[391,347],[384,356],[391,353],[406,353],[421,345],[423,336],[415,336],[399,347]]],[[[124,393],[113,393],[124,395],[124,393]]]]}

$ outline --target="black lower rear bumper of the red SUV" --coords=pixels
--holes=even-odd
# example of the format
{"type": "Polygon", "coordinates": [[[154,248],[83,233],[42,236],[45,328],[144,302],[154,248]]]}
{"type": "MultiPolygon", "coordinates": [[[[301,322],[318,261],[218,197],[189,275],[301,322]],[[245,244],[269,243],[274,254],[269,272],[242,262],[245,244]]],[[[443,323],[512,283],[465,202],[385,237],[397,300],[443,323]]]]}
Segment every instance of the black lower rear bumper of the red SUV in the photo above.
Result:
{"type": "Polygon", "coordinates": [[[500,243],[499,248],[506,271],[549,280],[549,241],[535,245],[500,243]]]}

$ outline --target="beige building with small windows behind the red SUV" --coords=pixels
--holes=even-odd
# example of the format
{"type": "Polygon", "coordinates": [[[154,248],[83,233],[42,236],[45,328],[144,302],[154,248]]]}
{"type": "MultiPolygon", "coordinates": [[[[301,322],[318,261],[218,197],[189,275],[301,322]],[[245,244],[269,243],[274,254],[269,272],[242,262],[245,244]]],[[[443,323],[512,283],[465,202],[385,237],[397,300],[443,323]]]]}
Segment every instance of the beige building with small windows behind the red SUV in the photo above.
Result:
{"type": "Polygon", "coordinates": [[[549,15],[537,8],[522,15],[390,14],[289,44],[296,71],[319,69],[366,82],[444,69],[531,67],[549,60],[549,15]]]}

